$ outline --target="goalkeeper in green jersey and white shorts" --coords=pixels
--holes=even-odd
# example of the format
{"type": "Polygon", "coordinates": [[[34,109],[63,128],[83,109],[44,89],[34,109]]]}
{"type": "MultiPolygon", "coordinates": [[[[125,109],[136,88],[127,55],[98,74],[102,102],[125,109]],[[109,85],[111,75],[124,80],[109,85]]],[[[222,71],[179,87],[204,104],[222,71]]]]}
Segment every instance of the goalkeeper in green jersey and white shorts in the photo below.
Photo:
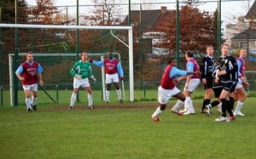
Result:
{"type": "Polygon", "coordinates": [[[81,54],[81,60],[79,60],[73,65],[73,68],[71,69],[70,73],[73,75],[73,94],[71,95],[69,109],[73,109],[73,105],[77,98],[80,86],[87,91],[89,109],[95,109],[95,107],[92,105],[93,99],[91,96],[92,92],[88,77],[91,77],[93,82],[96,82],[96,78],[93,76],[90,62],[87,61],[86,52],[83,52],[81,54]]]}

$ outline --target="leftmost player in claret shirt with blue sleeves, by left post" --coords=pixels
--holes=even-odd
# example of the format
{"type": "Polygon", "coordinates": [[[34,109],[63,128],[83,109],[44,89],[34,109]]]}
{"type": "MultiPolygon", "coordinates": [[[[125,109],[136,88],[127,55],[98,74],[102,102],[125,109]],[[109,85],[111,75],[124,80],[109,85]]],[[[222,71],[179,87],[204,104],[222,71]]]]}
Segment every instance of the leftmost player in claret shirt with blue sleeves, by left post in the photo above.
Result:
{"type": "Polygon", "coordinates": [[[26,95],[27,112],[31,112],[32,108],[34,111],[37,111],[38,81],[43,86],[42,72],[43,68],[38,62],[33,60],[32,52],[26,54],[26,62],[22,63],[15,71],[16,76],[22,82],[22,87],[26,95]],[[32,99],[30,99],[30,91],[32,92],[32,99]]]}

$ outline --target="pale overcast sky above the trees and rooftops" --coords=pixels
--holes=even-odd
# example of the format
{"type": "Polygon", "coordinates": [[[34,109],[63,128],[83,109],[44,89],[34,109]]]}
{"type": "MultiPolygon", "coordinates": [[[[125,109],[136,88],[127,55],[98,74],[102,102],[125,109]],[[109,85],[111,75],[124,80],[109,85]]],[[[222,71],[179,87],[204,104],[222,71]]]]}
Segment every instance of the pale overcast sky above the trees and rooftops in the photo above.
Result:
{"type": "MultiPolygon", "coordinates": [[[[26,0],[30,5],[35,5],[36,0],[26,0]]],[[[100,0],[99,0],[100,1],[100,0]]],[[[180,0],[181,1],[181,0],[180,0]]],[[[76,6],[76,0],[54,0],[55,6],[76,6]]],[[[93,5],[93,0],[79,0],[79,5],[93,5]]],[[[113,0],[109,0],[109,2],[113,2],[113,0]]],[[[120,5],[124,8],[123,11],[128,13],[128,0],[115,0],[115,3],[120,3],[120,5]]],[[[143,9],[160,9],[160,6],[166,6],[167,9],[176,9],[176,0],[131,0],[131,4],[134,3],[147,3],[143,4],[143,9]],[[153,4],[148,4],[153,3],[153,4]]],[[[201,5],[198,6],[200,10],[206,10],[209,12],[213,12],[218,8],[218,0],[200,0],[201,5]]],[[[248,5],[251,6],[254,0],[222,0],[221,1],[221,19],[224,21],[222,27],[227,24],[236,24],[237,18],[239,16],[244,16],[247,14],[248,5]],[[248,2],[250,2],[248,4],[248,2]]],[[[181,6],[182,3],[179,3],[181,6]]],[[[73,7],[75,10],[75,8],[73,7]]],[[[139,5],[131,5],[131,9],[139,9],[139,5]]],[[[79,9],[81,11],[83,9],[79,9]]],[[[68,11],[71,13],[71,11],[68,11]]]]}

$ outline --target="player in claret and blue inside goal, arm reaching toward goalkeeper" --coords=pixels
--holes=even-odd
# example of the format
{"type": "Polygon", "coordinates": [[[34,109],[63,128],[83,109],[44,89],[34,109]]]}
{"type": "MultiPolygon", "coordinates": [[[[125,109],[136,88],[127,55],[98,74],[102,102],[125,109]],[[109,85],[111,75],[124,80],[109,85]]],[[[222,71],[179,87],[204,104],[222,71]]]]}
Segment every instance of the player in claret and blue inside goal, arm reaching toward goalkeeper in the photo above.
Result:
{"type": "Polygon", "coordinates": [[[110,95],[110,88],[111,83],[113,82],[114,87],[116,88],[116,92],[118,94],[119,102],[123,103],[121,89],[119,88],[119,76],[120,80],[124,80],[124,71],[122,65],[113,57],[112,52],[108,52],[108,58],[102,61],[96,61],[88,59],[90,63],[97,65],[97,66],[104,66],[106,72],[106,83],[107,83],[107,90],[106,90],[106,103],[109,103],[109,95],[110,95]]]}

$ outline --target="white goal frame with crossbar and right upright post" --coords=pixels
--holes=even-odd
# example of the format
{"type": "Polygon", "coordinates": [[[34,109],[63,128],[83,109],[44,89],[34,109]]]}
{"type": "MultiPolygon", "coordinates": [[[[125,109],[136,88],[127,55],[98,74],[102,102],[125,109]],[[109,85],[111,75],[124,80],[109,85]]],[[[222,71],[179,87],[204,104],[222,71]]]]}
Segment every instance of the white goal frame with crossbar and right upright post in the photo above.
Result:
{"type": "MultiPolygon", "coordinates": [[[[0,24],[0,27],[9,28],[44,28],[44,29],[93,29],[93,30],[127,30],[128,31],[128,44],[125,45],[129,48],[129,99],[134,101],[134,77],[133,77],[133,43],[132,43],[132,26],[54,26],[54,25],[23,25],[23,24],[0,24]]],[[[113,36],[114,37],[114,36],[113,36]]],[[[115,37],[117,38],[117,37],[115,37]]],[[[119,40],[119,39],[118,39],[119,40]]],[[[10,74],[10,79],[13,80],[14,75],[10,74]]],[[[10,80],[10,89],[14,87],[13,82],[10,80]]],[[[12,92],[12,91],[10,91],[12,92]]],[[[11,93],[13,94],[13,93],[11,93]]],[[[11,101],[14,105],[14,101],[11,101]]]]}

